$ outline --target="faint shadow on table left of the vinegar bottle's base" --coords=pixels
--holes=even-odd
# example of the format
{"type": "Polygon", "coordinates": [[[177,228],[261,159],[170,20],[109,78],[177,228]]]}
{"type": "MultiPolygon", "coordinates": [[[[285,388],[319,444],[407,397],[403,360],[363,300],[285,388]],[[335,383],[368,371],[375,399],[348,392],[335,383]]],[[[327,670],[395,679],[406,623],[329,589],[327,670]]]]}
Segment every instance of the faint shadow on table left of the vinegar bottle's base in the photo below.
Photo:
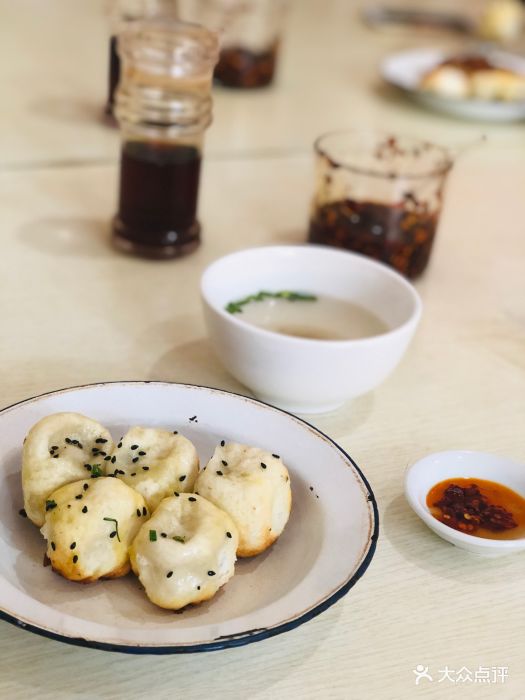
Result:
{"type": "Polygon", "coordinates": [[[49,217],[35,219],[19,229],[20,240],[47,255],[108,258],[115,253],[109,225],[102,219],[49,217]]]}

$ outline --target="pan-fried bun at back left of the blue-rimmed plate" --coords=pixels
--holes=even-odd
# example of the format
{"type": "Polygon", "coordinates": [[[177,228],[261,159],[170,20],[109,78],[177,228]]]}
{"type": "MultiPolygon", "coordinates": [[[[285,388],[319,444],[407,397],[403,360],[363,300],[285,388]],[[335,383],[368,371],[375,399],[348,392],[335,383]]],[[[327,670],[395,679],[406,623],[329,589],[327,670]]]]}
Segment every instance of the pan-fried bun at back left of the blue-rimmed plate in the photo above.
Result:
{"type": "Polygon", "coordinates": [[[38,421],[22,450],[22,490],[28,518],[41,527],[49,495],[64,484],[88,477],[95,463],[103,472],[104,456],[112,450],[109,432],[80,413],[53,413],[38,421]]]}

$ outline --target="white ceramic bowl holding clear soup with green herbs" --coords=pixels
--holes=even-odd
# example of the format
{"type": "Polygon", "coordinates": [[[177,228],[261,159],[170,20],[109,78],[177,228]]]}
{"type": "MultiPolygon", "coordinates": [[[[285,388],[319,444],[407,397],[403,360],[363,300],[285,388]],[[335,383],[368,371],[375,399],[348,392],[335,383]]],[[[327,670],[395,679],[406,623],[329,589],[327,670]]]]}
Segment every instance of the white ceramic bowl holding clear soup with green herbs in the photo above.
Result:
{"type": "Polygon", "coordinates": [[[259,398],[299,413],[333,410],[374,389],[398,364],[421,316],[401,275],[362,255],[324,246],[272,246],[232,253],[201,281],[212,345],[231,374],[259,398]],[[336,297],[372,311],[389,327],[358,340],[312,340],[245,323],[228,302],[261,290],[336,297]]]}

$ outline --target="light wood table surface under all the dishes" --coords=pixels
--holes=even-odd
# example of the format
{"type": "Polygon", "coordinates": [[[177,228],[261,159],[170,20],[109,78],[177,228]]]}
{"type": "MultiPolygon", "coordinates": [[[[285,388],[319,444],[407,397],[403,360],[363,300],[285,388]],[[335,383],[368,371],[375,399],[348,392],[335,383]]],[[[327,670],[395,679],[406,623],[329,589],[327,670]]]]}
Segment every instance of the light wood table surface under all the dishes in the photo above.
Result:
{"type": "Polygon", "coordinates": [[[449,448],[525,462],[525,131],[440,117],[381,86],[376,66],[388,51],[452,40],[371,32],[356,9],[298,0],[278,84],[216,92],[203,245],[156,263],[108,244],[118,136],[97,121],[102,3],[0,2],[2,405],[130,378],[246,393],[206,339],[199,278],[231,250],[305,240],[313,138],[353,125],[452,147],[489,137],[450,176],[431,264],[416,283],[422,324],[401,365],[373,393],[309,419],[352,455],[376,494],[380,540],[365,576],[291,632],[207,654],[133,657],[1,623],[0,698],[524,697],[523,555],[476,558],[440,540],[409,509],[403,473],[449,448]],[[416,687],[418,664],[434,679],[416,687]],[[505,667],[508,678],[439,682],[446,666],[505,667]]]}

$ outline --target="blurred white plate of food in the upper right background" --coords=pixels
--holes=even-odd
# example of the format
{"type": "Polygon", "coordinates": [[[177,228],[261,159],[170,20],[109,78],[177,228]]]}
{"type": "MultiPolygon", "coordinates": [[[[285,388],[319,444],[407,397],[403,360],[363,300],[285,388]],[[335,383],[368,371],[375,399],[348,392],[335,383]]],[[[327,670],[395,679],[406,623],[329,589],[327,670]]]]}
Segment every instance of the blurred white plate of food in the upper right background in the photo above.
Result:
{"type": "MultiPolygon", "coordinates": [[[[421,90],[423,75],[439,65],[448,54],[439,49],[415,49],[387,56],[380,67],[384,80],[427,108],[463,119],[512,122],[525,119],[525,100],[499,102],[447,99],[421,90]]],[[[525,58],[503,51],[491,51],[494,65],[525,74],[525,58]]]]}

